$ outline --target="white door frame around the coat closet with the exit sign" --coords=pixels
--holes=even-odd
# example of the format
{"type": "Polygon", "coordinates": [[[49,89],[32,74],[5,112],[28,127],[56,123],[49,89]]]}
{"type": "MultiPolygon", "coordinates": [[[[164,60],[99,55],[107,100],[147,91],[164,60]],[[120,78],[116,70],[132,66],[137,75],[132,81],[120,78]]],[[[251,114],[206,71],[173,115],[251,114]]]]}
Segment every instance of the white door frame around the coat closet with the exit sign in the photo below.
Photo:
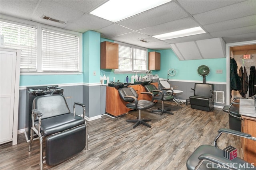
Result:
{"type": "Polygon", "coordinates": [[[230,105],[230,47],[256,44],[256,40],[226,44],[226,104],[230,105]]]}

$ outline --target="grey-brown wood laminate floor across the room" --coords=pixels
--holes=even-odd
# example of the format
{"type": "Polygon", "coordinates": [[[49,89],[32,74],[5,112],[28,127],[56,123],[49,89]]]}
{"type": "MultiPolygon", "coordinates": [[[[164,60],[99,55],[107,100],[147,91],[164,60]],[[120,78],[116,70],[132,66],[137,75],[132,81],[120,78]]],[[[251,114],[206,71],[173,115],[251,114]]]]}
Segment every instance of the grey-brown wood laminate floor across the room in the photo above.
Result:
{"type": "MultiPolygon", "coordinates": [[[[173,103],[175,105],[175,103],[173,103]]],[[[211,112],[191,109],[182,105],[174,115],[149,124],[151,128],[126,119],[135,119],[125,114],[87,122],[88,150],[45,170],[186,170],[186,160],[200,145],[213,145],[217,130],[228,128],[228,113],[214,108],[211,112]]],[[[240,138],[223,134],[218,146],[240,148],[240,138]]],[[[68,148],[67,148],[68,149],[68,148]]],[[[32,151],[24,134],[18,135],[18,145],[6,143],[0,146],[1,170],[38,170],[39,141],[33,141],[32,151]]]]}

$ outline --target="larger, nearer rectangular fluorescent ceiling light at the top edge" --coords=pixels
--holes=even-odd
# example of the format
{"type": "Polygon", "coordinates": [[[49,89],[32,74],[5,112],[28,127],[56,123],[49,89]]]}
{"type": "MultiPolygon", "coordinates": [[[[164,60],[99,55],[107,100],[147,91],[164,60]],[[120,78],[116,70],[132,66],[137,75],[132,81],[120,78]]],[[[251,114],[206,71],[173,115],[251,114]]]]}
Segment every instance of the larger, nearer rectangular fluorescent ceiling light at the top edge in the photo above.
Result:
{"type": "Polygon", "coordinates": [[[109,0],[90,14],[117,22],[134,16],[171,0],[109,0]]]}

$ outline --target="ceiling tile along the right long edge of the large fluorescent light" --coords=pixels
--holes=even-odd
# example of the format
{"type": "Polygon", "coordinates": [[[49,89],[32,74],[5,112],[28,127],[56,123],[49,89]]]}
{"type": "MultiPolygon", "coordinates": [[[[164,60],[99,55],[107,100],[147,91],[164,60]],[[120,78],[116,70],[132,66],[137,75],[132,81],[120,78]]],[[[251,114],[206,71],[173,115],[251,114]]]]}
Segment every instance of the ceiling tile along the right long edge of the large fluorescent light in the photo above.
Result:
{"type": "Polygon", "coordinates": [[[138,30],[185,18],[186,16],[188,16],[188,14],[172,1],[152,10],[143,12],[142,14],[120,21],[118,24],[133,30],[138,30]]]}

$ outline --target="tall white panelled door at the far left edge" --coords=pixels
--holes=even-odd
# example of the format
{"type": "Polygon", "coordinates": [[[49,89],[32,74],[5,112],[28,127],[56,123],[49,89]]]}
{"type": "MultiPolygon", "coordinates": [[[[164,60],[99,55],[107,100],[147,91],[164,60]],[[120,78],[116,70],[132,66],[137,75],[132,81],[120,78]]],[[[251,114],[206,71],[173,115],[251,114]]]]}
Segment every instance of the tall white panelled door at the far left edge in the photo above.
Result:
{"type": "Polygon", "coordinates": [[[0,144],[12,141],[16,53],[0,51],[0,144]]]}

